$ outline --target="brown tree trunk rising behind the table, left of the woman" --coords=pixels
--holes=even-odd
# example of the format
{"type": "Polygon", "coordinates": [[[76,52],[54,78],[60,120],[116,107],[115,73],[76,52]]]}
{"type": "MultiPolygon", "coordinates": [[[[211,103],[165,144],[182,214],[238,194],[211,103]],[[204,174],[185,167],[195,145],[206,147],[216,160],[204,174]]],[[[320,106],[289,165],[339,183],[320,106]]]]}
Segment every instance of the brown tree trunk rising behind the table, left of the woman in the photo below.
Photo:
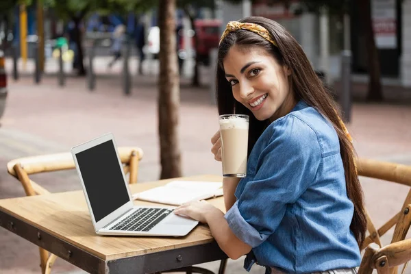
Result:
{"type": "Polygon", "coordinates": [[[160,78],[158,129],[160,135],[160,179],[180,177],[181,154],[178,142],[179,75],[175,37],[175,0],[160,0],[160,78]]]}

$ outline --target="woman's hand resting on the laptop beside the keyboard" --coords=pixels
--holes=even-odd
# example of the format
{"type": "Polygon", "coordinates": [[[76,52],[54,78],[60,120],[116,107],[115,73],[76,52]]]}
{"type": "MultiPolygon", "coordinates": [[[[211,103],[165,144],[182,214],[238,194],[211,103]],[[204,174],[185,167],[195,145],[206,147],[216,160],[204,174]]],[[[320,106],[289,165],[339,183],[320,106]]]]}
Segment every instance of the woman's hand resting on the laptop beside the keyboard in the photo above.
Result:
{"type": "Polygon", "coordinates": [[[182,204],[174,210],[176,215],[186,215],[192,219],[195,219],[201,223],[208,223],[208,218],[212,216],[213,212],[219,212],[220,210],[212,206],[208,201],[190,201],[182,204]]]}

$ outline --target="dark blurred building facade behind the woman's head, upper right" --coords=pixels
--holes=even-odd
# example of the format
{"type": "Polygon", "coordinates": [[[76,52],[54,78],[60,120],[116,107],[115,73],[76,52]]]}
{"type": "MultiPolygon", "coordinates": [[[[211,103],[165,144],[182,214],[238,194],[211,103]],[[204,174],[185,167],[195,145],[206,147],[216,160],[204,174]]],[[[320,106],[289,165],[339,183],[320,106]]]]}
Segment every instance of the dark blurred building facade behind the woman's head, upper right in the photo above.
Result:
{"type": "MultiPolygon", "coordinates": [[[[303,47],[314,69],[324,71],[334,80],[340,77],[341,52],[349,49],[354,79],[366,82],[364,16],[356,1],[351,2],[347,21],[343,14],[323,16],[306,12],[299,0],[290,1],[288,9],[267,0],[253,1],[249,10],[245,7],[242,4],[233,9],[231,5],[223,5],[223,23],[247,14],[279,22],[303,47]]],[[[371,0],[371,17],[383,82],[411,87],[411,0],[371,0]]]]}

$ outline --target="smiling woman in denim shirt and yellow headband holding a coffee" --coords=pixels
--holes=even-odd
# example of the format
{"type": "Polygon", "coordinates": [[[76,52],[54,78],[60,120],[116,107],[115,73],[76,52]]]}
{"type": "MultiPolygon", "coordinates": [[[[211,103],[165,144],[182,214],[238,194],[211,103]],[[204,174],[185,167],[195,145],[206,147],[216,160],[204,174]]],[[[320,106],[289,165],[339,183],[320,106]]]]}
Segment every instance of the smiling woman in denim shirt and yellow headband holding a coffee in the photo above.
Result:
{"type": "MultiPolygon", "coordinates": [[[[356,273],[366,232],[350,136],[297,41],[266,18],[227,25],[220,114],[248,114],[247,177],[224,178],[227,213],[206,201],[175,214],[208,223],[232,259],[266,273],[356,273]]],[[[221,160],[219,134],[212,151],[221,160]]]]}

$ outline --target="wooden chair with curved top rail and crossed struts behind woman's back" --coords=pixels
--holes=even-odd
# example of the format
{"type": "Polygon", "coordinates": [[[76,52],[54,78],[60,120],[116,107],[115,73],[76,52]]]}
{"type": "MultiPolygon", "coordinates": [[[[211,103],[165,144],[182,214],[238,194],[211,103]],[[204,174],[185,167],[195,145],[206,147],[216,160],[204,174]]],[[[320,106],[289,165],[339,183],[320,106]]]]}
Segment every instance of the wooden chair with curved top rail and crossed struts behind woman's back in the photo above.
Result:
{"type": "MultiPolygon", "coordinates": [[[[395,182],[397,184],[411,187],[411,166],[390,162],[381,162],[377,160],[358,159],[357,167],[359,176],[383,179],[388,182],[395,182]]],[[[393,216],[389,221],[384,223],[384,225],[379,227],[379,229],[375,227],[373,221],[371,220],[369,212],[366,212],[367,229],[369,236],[365,238],[360,249],[363,250],[364,248],[369,247],[371,243],[375,243],[377,246],[382,248],[380,237],[386,234],[386,232],[388,232],[388,230],[391,229],[391,227],[393,227],[394,225],[395,230],[391,243],[404,240],[411,225],[410,210],[411,190],[408,192],[406,199],[403,201],[401,210],[399,210],[399,212],[395,214],[395,216],[393,216]]],[[[370,253],[371,250],[373,250],[373,252],[377,250],[375,249],[374,245],[371,245],[370,247],[371,248],[368,248],[366,252],[370,253]]],[[[369,260],[369,258],[365,258],[364,255],[363,260],[369,260]]],[[[395,266],[393,267],[393,269],[390,269],[390,273],[397,273],[397,267],[395,266]]]]}

